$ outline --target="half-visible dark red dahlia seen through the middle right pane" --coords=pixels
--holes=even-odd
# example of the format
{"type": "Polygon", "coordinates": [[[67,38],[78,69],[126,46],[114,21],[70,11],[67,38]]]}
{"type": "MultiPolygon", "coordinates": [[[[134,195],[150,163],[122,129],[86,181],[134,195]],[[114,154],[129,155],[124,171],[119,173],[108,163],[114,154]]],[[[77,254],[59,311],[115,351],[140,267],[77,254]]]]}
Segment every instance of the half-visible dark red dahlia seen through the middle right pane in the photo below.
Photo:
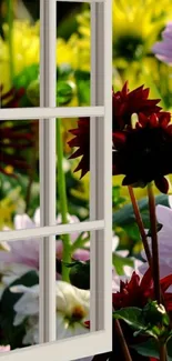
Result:
{"type": "Polygon", "coordinates": [[[68,144],[71,148],[78,148],[70,159],[82,156],[81,161],[74,172],[81,170],[81,178],[90,170],[90,118],[78,120],[78,128],[69,130],[74,136],[68,144]]]}

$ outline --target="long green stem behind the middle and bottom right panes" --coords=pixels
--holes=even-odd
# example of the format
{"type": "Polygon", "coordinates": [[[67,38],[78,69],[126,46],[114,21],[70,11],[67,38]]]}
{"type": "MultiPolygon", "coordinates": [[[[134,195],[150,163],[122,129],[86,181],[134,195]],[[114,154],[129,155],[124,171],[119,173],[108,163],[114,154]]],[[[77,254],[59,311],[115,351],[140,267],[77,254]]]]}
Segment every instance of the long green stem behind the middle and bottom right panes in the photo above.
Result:
{"type": "MultiPolygon", "coordinates": [[[[62,223],[68,223],[68,203],[67,203],[67,188],[65,176],[63,172],[63,143],[61,133],[61,119],[57,119],[57,153],[58,153],[58,187],[60,199],[60,212],[62,223]]],[[[71,241],[69,234],[64,234],[63,238],[63,262],[62,262],[62,280],[69,281],[69,268],[65,263],[71,261],[71,241]]]]}

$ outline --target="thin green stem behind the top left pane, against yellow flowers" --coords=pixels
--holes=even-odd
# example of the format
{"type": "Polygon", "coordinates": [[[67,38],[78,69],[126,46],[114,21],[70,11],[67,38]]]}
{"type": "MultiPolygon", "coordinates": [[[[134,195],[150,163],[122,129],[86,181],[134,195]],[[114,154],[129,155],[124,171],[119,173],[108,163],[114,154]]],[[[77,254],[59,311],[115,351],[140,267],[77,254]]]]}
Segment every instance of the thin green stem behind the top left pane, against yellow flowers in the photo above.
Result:
{"type": "Polygon", "coordinates": [[[8,42],[9,42],[9,67],[10,67],[10,81],[12,86],[14,67],[13,67],[13,8],[12,0],[7,0],[8,9],[8,42]]]}

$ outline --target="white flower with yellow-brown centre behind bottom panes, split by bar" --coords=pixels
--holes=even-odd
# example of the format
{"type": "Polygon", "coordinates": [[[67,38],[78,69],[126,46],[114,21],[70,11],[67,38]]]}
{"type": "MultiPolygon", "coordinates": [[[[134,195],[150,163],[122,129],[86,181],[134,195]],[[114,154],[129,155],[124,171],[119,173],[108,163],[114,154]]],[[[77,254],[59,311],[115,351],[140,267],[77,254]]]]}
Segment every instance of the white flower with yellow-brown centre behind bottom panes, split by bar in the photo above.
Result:
{"type": "MultiPolygon", "coordinates": [[[[39,285],[27,288],[16,285],[12,292],[23,292],[14,304],[13,324],[19,325],[28,319],[23,344],[39,342],[39,285]]],[[[90,291],[80,290],[70,283],[57,281],[57,340],[88,333],[84,321],[89,320],[90,291]]]]}

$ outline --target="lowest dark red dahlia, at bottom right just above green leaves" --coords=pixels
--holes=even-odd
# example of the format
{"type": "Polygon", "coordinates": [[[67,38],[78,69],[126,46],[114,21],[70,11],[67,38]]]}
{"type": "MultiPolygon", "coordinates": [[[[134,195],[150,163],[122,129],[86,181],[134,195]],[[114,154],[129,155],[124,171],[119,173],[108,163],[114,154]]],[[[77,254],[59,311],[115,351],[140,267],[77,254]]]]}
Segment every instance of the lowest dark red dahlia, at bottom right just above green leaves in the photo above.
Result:
{"type": "MultiPolygon", "coordinates": [[[[160,280],[161,290],[168,311],[172,311],[172,293],[166,292],[172,285],[172,274],[160,280]]],[[[112,303],[115,310],[125,307],[143,308],[150,299],[154,299],[153,280],[150,269],[144,273],[143,278],[133,272],[131,280],[121,281],[120,291],[113,293],[112,303]]]]}

